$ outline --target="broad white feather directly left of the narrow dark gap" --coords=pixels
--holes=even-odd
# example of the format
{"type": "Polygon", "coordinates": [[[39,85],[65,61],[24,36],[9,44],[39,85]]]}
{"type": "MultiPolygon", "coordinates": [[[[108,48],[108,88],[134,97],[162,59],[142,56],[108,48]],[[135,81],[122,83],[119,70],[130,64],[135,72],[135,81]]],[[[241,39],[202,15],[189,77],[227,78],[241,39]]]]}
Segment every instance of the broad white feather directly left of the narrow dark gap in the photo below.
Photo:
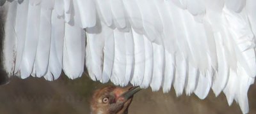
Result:
{"type": "Polygon", "coordinates": [[[63,71],[68,78],[78,78],[84,71],[85,37],[83,29],[65,24],[63,71]]]}

